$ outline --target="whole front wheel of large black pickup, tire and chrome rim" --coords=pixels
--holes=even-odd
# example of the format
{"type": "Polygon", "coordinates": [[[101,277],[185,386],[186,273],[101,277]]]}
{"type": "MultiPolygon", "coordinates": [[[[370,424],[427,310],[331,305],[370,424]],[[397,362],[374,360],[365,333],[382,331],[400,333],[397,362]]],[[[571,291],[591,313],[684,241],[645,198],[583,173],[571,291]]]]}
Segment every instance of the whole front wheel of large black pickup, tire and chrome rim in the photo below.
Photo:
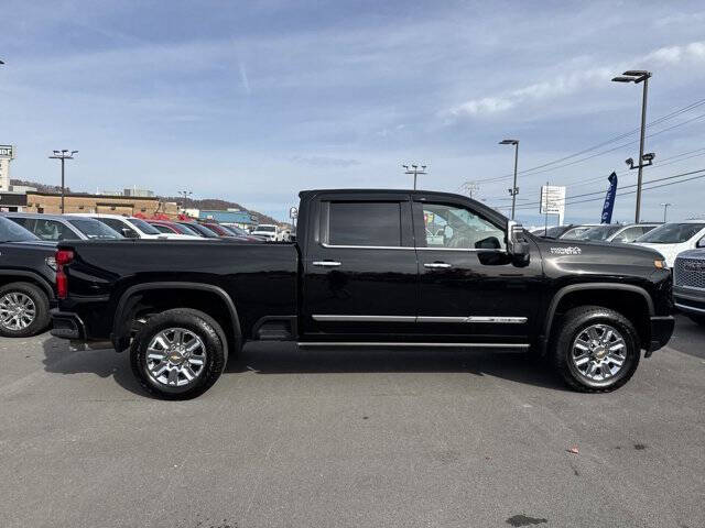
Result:
{"type": "Polygon", "coordinates": [[[637,371],[640,358],[639,337],[631,321],[599,306],[568,310],[553,340],[556,371],[571,388],[583,393],[621,387],[637,371]]]}

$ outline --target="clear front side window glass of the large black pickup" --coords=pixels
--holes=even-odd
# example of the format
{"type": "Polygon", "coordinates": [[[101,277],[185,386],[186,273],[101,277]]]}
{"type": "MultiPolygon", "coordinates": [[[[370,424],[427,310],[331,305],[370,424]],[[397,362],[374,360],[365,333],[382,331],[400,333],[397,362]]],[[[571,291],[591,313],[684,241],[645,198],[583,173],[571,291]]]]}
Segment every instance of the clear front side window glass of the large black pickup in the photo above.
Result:
{"type": "Polygon", "coordinates": [[[467,209],[424,204],[426,248],[449,250],[505,250],[505,231],[467,209]]]}

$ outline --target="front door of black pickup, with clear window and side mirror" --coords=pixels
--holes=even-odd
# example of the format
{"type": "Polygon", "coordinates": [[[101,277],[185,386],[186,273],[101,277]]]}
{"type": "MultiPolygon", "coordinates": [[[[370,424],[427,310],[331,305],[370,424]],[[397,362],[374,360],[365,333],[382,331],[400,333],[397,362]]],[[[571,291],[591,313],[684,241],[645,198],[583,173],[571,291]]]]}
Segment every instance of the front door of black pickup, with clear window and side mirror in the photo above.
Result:
{"type": "Polygon", "coordinates": [[[447,341],[528,344],[541,305],[538,249],[531,244],[528,264],[516,263],[506,226],[460,198],[414,197],[413,216],[419,331],[447,341]]]}

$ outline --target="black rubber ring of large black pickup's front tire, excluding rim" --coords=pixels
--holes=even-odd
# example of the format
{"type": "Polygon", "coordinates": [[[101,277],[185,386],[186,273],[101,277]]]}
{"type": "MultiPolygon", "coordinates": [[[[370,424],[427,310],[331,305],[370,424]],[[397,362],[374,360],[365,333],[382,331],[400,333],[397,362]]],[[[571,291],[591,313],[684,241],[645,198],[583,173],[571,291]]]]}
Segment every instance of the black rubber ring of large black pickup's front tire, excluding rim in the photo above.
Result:
{"type": "Polygon", "coordinates": [[[633,375],[641,350],[639,339],[631,322],[623,316],[608,309],[586,310],[574,320],[567,320],[557,341],[556,353],[561,355],[560,366],[564,373],[570,374],[573,383],[581,385],[581,388],[588,391],[611,391],[627,383],[633,375]],[[593,324],[609,324],[619,331],[625,340],[626,359],[622,369],[607,382],[588,380],[578,371],[573,363],[573,342],[587,328],[593,324]],[[566,372],[567,371],[567,372],[566,372]]]}

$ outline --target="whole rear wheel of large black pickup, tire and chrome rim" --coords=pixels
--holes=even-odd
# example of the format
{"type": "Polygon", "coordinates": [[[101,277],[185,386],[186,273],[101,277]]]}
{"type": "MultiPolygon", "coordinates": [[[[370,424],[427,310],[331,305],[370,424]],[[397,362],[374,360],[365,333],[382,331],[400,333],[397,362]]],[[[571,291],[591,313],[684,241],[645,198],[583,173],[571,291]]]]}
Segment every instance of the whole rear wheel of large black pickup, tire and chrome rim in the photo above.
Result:
{"type": "Polygon", "coordinates": [[[218,323],[198,310],[163,311],[151,317],[132,340],[132,372],[154,396],[195,398],[208,391],[225,369],[228,358],[220,336],[218,323]]]}

